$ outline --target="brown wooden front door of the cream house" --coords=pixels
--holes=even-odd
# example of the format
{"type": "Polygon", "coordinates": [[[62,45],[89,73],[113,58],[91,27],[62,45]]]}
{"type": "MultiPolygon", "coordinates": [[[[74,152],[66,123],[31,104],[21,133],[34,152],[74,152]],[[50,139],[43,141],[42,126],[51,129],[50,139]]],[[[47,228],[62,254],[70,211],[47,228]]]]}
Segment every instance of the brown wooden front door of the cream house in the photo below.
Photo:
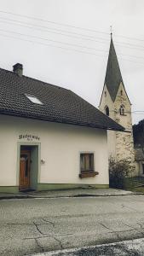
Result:
{"type": "Polygon", "coordinates": [[[20,152],[20,190],[30,189],[30,150],[20,152]]]}

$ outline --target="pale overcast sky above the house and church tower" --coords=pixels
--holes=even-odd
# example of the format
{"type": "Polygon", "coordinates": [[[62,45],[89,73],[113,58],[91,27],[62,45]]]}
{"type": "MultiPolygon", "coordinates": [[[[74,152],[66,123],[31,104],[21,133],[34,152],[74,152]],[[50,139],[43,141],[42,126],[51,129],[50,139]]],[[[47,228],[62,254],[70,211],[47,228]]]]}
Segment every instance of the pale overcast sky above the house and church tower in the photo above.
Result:
{"type": "Polygon", "coordinates": [[[110,26],[133,123],[144,119],[144,0],[0,0],[0,67],[99,106],[110,26]],[[143,113],[142,113],[143,111],[143,113]]]}

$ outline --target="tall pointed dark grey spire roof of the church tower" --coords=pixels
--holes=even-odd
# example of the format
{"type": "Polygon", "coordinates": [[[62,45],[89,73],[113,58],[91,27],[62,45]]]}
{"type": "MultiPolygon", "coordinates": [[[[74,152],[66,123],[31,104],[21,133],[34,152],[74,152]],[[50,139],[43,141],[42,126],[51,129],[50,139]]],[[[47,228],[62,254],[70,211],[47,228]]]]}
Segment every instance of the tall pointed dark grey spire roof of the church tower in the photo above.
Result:
{"type": "Polygon", "coordinates": [[[109,91],[109,94],[112,98],[112,102],[115,101],[118,92],[118,87],[121,82],[123,83],[123,79],[118,65],[118,58],[116,55],[116,51],[114,49],[111,35],[111,44],[107,61],[105,84],[107,84],[107,90],[109,91]]]}

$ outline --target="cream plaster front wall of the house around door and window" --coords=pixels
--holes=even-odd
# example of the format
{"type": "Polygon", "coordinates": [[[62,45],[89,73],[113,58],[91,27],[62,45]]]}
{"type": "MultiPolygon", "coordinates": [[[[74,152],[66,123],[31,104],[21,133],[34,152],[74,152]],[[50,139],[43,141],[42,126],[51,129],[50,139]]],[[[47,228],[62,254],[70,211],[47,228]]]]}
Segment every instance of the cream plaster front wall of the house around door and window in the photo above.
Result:
{"type": "MultiPolygon", "coordinates": [[[[0,186],[19,185],[17,143],[20,134],[40,137],[39,183],[108,184],[107,131],[0,115],[0,186]],[[80,152],[95,153],[95,177],[79,178],[80,152]]],[[[37,141],[32,141],[34,143],[37,141]]]]}

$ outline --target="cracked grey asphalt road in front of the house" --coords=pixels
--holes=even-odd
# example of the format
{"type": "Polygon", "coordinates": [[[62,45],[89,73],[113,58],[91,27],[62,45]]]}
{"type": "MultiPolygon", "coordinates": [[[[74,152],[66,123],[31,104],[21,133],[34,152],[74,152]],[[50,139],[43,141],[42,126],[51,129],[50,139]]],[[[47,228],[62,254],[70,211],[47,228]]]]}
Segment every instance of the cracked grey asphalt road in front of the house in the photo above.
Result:
{"type": "Polygon", "coordinates": [[[143,195],[0,201],[1,256],[141,237],[143,195]]]}

